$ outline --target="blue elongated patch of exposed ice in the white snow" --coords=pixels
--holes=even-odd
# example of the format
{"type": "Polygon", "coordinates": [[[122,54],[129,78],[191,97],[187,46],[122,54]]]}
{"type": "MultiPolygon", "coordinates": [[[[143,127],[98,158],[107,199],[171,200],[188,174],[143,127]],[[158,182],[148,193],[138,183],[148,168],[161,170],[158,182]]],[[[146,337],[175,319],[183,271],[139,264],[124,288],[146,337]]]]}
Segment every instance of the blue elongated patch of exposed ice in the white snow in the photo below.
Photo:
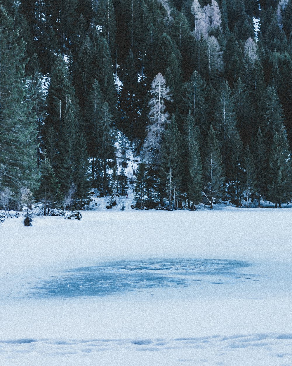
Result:
{"type": "MultiPolygon", "coordinates": [[[[227,259],[149,259],[115,261],[74,268],[38,281],[33,297],[107,296],[153,290],[231,286],[258,281],[260,275],[243,273],[249,262],[227,259]]],[[[252,272],[252,271],[251,271],[252,272]]],[[[152,294],[153,295],[153,294],[152,294]]]]}

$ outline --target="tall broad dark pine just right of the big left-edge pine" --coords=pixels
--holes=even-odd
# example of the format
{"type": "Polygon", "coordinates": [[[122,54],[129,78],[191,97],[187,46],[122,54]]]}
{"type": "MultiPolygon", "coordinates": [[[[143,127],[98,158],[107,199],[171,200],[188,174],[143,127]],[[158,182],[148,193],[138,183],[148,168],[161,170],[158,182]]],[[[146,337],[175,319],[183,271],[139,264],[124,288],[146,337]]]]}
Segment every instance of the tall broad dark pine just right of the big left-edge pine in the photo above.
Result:
{"type": "Polygon", "coordinates": [[[80,207],[88,189],[87,150],[82,127],[70,75],[64,61],[58,57],[47,96],[43,142],[61,193],[65,195],[73,184],[80,207]]]}

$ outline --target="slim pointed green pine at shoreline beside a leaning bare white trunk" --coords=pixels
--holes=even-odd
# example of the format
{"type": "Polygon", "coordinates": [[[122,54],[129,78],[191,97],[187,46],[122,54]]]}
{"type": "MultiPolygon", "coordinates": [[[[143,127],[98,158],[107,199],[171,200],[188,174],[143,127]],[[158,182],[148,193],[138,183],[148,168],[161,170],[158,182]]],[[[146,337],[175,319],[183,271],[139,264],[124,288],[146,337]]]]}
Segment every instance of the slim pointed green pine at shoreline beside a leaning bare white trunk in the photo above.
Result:
{"type": "Polygon", "coordinates": [[[204,161],[204,186],[208,193],[210,208],[213,208],[213,198],[221,197],[224,175],[220,154],[220,145],[213,127],[210,127],[206,156],[204,161]]]}

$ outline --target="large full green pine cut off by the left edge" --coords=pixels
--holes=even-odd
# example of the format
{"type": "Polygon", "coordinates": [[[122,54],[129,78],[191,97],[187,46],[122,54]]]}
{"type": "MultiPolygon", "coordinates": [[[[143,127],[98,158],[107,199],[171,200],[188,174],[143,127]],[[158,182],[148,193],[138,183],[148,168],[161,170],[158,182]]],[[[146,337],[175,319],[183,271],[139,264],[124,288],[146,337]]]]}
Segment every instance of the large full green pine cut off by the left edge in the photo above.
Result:
{"type": "Polygon", "coordinates": [[[0,190],[38,188],[37,123],[24,79],[24,42],[0,5],[0,190]]]}

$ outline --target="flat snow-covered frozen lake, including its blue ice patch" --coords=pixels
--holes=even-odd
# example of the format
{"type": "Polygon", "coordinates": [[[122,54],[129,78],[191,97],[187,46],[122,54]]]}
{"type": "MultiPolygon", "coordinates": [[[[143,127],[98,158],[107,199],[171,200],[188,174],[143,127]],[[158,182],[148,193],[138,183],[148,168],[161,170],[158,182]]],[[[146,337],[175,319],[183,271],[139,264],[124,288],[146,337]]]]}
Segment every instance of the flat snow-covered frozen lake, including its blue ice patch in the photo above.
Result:
{"type": "Polygon", "coordinates": [[[1,366],[292,365],[292,209],[82,216],[0,226],[1,366]]]}

